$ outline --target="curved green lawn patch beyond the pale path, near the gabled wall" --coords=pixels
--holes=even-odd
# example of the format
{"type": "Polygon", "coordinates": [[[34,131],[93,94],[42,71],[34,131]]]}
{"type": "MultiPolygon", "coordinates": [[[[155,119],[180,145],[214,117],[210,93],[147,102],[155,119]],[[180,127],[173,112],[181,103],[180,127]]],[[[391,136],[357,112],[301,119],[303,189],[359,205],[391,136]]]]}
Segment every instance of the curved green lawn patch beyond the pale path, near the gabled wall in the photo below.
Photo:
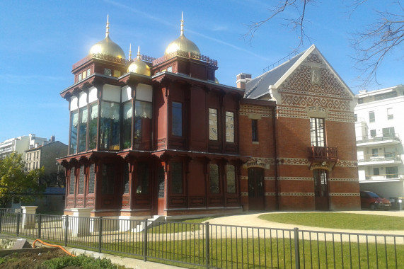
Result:
{"type": "Polygon", "coordinates": [[[354,230],[404,230],[404,217],[336,212],[262,214],[260,219],[311,227],[354,230]]]}

